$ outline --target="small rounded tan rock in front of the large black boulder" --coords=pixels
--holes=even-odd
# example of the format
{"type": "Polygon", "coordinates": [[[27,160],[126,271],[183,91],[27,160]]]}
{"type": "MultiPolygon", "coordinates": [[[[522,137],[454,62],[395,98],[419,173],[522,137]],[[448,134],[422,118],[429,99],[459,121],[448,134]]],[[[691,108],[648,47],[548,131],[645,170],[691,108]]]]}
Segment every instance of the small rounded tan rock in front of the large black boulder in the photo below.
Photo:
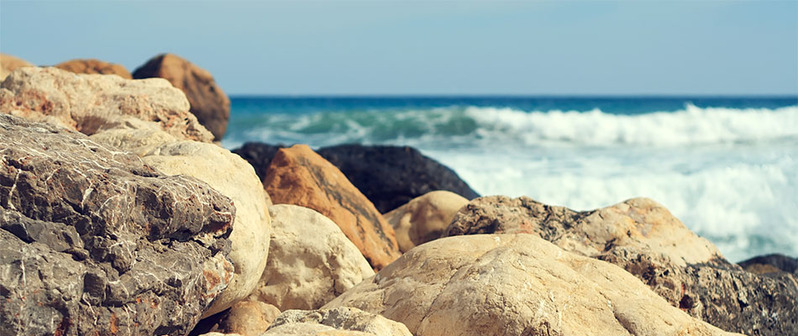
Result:
{"type": "Polygon", "coordinates": [[[396,232],[403,253],[441,234],[452,222],[457,210],[468,204],[463,196],[450,191],[431,191],[385,214],[396,232]]]}

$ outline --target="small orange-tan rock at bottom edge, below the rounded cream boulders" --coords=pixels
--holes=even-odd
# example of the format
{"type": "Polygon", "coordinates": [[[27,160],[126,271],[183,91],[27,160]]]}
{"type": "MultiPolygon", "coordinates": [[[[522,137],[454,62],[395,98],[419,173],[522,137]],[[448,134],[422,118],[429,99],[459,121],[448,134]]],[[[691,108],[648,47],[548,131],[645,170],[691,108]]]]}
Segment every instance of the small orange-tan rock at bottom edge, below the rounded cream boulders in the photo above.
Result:
{"type": "Polygon", "coordinates": [[[239,301],[230,307],[220,328],[242,336],[260,336],[280,315],[277,307],[259,301],[239,301]]]}

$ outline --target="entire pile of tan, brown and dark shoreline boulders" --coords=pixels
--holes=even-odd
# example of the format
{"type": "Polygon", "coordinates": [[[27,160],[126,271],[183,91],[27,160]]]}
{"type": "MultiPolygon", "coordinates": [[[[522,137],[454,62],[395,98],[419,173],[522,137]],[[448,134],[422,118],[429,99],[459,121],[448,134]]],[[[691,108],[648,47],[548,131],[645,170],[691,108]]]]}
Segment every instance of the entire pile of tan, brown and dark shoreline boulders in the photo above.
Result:
{"type": "Polygon", "coordinates": [[[798,260],[732,264],[655,201],[480,197],[410,147],[231,152],[175,55],[0,64],[0,335],[798,333],[798,260]]]}

